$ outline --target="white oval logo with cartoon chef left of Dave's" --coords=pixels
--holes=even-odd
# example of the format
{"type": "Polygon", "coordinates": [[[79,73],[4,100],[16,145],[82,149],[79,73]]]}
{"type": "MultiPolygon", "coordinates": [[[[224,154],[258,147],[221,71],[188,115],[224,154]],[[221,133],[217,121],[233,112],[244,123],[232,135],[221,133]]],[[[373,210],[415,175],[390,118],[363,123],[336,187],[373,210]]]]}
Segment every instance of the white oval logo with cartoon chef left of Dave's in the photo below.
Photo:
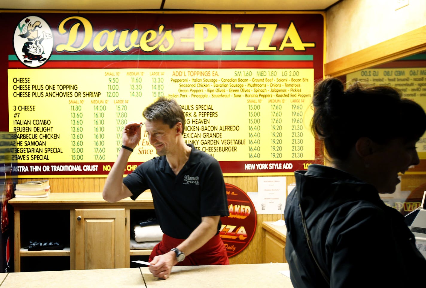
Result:
{"type": "Polygon", "coordinates": [[[42,66],[52,54],[52,30],[40,17],[25,17],[15,29],[13,45],[16,56],[25,66],[42,66]]]}

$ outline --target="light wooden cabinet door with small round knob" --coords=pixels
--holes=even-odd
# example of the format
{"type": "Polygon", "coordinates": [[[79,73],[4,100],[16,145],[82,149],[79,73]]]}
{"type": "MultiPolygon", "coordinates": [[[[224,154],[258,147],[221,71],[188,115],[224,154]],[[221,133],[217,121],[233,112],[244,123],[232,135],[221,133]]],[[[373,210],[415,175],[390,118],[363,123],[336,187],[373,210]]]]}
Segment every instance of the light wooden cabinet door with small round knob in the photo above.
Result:
{"type": "Polygon", "coordinates": [[[75,209],[75,269],[126,268],[125,216],[125,209],[75,209]]]}

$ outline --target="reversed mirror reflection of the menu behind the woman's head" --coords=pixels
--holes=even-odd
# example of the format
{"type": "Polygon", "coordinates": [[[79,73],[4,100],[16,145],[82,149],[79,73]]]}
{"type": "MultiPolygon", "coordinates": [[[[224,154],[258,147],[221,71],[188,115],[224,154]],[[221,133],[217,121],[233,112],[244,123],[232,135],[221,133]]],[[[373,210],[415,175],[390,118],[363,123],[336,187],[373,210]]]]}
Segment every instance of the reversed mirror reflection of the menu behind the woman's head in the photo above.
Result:
{"type": "MultiPolygon", "coordinates": [[[[374,86],[384,85],[398,88],[404,98],[411,99],[426,110],[426,68],[371,68],[346,75],[348,82],[360,81],[374,86]]],[[[407,125],[415,125],[407,119],[407,125]]],[[[426,134],[416,144],[420,165],[410,168],[411,172],[426,171],[426,134]]]]}

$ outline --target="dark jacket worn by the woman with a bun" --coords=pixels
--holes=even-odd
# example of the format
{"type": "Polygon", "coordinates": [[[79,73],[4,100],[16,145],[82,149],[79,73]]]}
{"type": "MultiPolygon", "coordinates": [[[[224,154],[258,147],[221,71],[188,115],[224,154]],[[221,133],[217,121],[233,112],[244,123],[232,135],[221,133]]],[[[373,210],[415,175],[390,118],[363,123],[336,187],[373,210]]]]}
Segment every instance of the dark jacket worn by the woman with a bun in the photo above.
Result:
{"type": "Polygon", "coordinates": [[[284,212],[285,257],[294,287],[412,287],[424,281],[426,260],[414,235],[372,185],[317,164],[295,177],[284,212]],[[330,286],[309,251],[299,203],[330,286]]]}

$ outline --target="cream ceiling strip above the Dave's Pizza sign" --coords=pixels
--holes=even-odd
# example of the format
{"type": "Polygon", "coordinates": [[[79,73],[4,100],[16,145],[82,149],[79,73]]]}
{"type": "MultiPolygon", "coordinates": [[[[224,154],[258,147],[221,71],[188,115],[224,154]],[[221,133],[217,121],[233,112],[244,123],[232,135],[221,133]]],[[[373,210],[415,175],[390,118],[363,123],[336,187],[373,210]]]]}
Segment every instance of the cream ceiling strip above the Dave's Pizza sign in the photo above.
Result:
{"type": "Polygon", "coordinates": [[[23,10],[325,10],[339,0],[0,0],[0,9],[23,10]]]}

